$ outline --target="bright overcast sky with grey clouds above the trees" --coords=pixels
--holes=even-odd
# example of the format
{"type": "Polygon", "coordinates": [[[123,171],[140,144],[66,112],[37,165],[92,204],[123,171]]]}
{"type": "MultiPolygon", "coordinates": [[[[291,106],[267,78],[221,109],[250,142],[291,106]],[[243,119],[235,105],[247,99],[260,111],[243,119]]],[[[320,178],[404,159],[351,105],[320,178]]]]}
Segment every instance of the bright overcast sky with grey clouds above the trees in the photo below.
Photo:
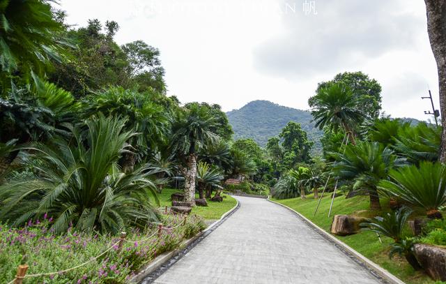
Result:
{"type": "Polygon", "coordinates": [[[169,95],[223,110],[271,100],[307,110],[317,83],[362,70],[392,117],[428,119],[438,76],[422,0],[61,0],[68,23],[115,20],[120,44],[161,52],[169,95]],[[306,8],[306,9],[305,9],[306,8]]]}

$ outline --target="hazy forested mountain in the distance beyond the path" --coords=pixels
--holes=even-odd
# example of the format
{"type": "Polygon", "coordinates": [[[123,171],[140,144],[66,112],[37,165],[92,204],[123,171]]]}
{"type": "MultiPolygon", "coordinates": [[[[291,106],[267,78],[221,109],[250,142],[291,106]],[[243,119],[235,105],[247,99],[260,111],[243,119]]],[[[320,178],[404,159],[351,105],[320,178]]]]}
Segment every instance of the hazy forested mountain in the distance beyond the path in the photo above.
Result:
{"type": "Polygon", "coordinates": [[[323,132],[314,128],[312,114],[306,110],[284,107],[268,100],[254,100],[240,110],[226,112],[226,115],[234,131],[234,139],[252,138],[265,147],[269,137],[279,135],[289,121],[295,121],[314,141],[314,150],[322,148],[320,139],[323,132]]]}

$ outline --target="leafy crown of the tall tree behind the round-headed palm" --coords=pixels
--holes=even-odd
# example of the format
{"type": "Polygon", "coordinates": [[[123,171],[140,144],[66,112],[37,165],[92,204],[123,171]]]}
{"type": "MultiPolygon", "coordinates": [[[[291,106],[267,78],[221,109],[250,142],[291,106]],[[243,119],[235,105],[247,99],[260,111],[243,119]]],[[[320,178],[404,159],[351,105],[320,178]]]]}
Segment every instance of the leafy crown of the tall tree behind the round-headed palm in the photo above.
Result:
{"type": "MultiPolygon", "coordinates": [[[[359,72],[344,72],[334,76],[333,80],[318,84],[316,94],[334,84],[344,84],[351,89],[357,100],[357,109],[363,110],[369,119],[378,118],[381,110],[381,86],[375,79],[359,72]]],[[[314,104],[314,97],[309,98],[309,105],[314,104]]]]}

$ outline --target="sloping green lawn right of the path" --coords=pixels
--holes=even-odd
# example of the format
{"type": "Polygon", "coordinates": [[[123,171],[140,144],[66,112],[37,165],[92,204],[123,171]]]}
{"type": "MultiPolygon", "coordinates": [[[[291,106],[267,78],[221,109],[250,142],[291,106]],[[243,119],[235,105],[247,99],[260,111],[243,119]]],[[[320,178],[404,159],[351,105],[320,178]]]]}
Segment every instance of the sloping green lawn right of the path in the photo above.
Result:
{"type": "MultiPolygon", "coordinates": [[[[327,232],[330,232],[332,216],[335,214],[355,214],[357,216],[371,217],[380,213],[369,211],[369,197],[357,196],[346,199],[345,195],[341,195],[334,199],[332,215],[329,218],[330,195],[331,194],[327,197],[323,197],[316,216],[313,216],[313,214],[318,200],[315,200],[312,195],[308,195],[306,200],[302,200],[300,197],[287,200],[273,200],[298,211],[327,232]]],[[[388,209],[387,200],[382,200],[381,204],[383,205],[383,209],[388,209]]],[[[371,261],[379,264],[381,267],[387,269],[387,271],[390,271],[390,273],[408,284],[435,283],[435,281],[432,281],[426,274],[414,271],[403,258],[396,256],[390,260],[387,256],[387,245],[391,243],[391,239],[389,238],[382,237],[383,244],[380,244],[376,234],[367,231],[346,237],[335,237],[344,241],[345,244],[351,246],[351,248],[354,248],[357,252],[368,257],[371,261]]]]}

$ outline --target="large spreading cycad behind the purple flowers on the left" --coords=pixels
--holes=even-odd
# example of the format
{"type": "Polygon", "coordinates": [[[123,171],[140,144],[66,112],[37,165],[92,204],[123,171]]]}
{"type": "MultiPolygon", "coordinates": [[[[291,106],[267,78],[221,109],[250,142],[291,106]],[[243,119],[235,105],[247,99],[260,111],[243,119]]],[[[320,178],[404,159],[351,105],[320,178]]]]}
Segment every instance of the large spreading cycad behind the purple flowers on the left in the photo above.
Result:
{"type": "Polygon", "coordinates": [[[72,130],[72,140],[29,144],[22,163],[33,175],[13,179],[0,187],[3,221],[20,225],[48,214],[55,232],[78,230],[116,234],[128,226],[144,227],[157,220],[155,185],[144,168],[124,174],[118,159],[135,135],[124,131],[125,121],[102,115],[86,121],[86,130],[72,130]]]}

